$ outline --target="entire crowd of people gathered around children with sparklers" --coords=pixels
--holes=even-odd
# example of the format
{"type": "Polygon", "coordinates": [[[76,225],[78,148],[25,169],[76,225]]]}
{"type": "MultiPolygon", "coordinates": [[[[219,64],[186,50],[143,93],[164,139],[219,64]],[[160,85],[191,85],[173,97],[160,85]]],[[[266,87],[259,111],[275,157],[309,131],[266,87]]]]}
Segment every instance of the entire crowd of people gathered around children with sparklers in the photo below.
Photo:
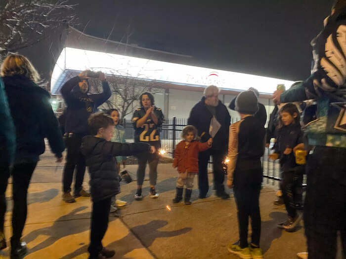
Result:
{"type": "MultiPolygon", "coordinates": [[[[241,117],[232,125],[226,106],[218,100],[219,89],[214,85],[205,88],[204,97],[189,114],[189,125],[182,130],[182,141],[175,147],[173,167],[177,168],[178,178],[173,203],[182,200],[185,187],[184,203],[191,204],[196,174],[199,198],[207,197],[210,157],[216,195],[229,198],[222,168],[225,157],[228,157],[226,185],[233,188],[239,240],[227,248],[240,258],[263,258],[260,249],[260,158],[271,138],[276,142],[270,158],[280,159],[280,192],[288,215],[285,222],[278,222],[278,227],[294,231],[303,217],[308,251],[300,254],[301,258],[335,258],[338,231],[346,255],[345,28],[346,0],[336,0],[323,30],[311,42],[314,54],[311,76],[286,91],[278,87],[273,93],[275,109],[267,129],[264,128],[265,108],[258,102],[259,92],[252,87],[239,93],[229,104],[229,108],[241,117]],[[314,99],[315,108],[311,109],[306,103],[298,106],[295,103],[309,99],[314,99]],[[302,206],[304,173],[307,174],[307,188],[302,206]],[[303,214],[300,212],[302,207],[303,214]],[[252,227],[250,244],[249,218],[252,227]]],[[[149,196],[159,197],[155,185],[164,115],[155,107],[153,95],[145,92],[140,96],[140,108],[132,116],[134,143],[128,144],[125,130],[119,125],[119,111],[96,112],[111,96],[103,73],[86,70],[62,86],[61,94],[67,109],[60,124],[51,108],[49,93],[37,85],[39,74],[27,58],[14,54],[7,56],[0,74],[0,250],[7,246],[4,236],[5,191],[11,176],[10,256],[17,259],[27,254],[21,236],[27,216],[28,187],[39,156],[44,152],[44,138],[47,138],[57,162],[63,162],[62,152],[65,146],[67,149],[63,201],[71,203],[76,202],[76,197],[91,196],[89,258],[113,257],[115,251],[105,249],[102,239],[111,209],[115,211],[117,206],[126,205],[126,202],[117,200],[116,195],[120,192],[118,173],[121,165],[126,164],[127,156],[138,157],[134,199],[143,198],[147,163],[149,196]],[[89,93],[91,77],[101,82],[102,93],[89,93]],[[89,168],[90,193],[83,189],[86,166],[89,168]],[[71,195],[74,172],[74,193],[71,195]]]]}

